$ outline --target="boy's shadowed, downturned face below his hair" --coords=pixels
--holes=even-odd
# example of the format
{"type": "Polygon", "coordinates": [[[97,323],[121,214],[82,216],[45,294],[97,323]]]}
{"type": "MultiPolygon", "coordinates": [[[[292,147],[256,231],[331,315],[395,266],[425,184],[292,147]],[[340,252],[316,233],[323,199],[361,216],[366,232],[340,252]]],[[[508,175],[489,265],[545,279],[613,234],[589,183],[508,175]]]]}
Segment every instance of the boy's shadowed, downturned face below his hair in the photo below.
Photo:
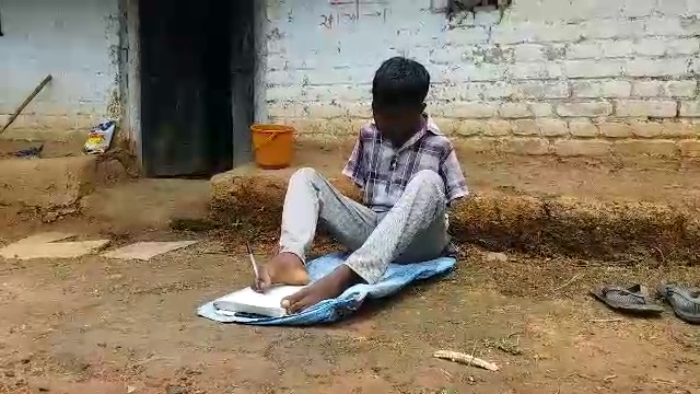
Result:
{"type": "Polygon", "coordinates": [[[382,132],[395,144],[404,144],[411,138],[422,124],[425,104],[415,106],[377,106],[372,105],[374,123],[382,132]]]}

